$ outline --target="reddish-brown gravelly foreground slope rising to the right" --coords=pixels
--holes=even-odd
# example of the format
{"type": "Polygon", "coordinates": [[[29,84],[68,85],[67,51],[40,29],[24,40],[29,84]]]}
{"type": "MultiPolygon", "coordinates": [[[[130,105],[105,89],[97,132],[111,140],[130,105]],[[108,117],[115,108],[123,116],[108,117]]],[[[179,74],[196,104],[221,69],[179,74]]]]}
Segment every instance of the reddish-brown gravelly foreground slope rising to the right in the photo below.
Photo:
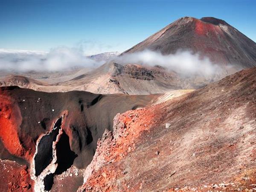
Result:
{"type": "Polygon", "coordinates": [[[255,73],[117,114],[79,192],[255,190],[255,73]]]}

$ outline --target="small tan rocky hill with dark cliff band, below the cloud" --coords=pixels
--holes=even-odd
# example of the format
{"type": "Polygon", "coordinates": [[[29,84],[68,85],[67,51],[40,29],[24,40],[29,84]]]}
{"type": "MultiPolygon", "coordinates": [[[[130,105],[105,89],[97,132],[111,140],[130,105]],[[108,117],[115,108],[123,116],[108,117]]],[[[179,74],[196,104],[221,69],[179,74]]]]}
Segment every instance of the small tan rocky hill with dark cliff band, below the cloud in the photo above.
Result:
{"type": "MultiPolygon", "coordinates": [[[[205,79],[180,78],[177,73],[163,67],[148,67],[136,64],[121,65],[113,61],[98,69],[61,83],[93,93],[126,93],[130,95],[165,93],[169,90],[203,87],[205,79]]],[[[208,79],[210,81],[210,79],[208,79]]]]}

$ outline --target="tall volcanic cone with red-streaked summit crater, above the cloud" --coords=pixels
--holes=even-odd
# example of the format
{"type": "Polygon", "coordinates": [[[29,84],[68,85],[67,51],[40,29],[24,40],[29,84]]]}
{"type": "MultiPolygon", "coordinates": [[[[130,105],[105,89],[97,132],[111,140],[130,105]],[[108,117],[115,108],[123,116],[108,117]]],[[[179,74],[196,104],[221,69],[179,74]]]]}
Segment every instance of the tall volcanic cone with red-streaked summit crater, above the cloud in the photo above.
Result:
{"type": "Polygon", "coordinates": [[[233,64],[238,68],[256,66],[256,43],[214,17],[182,17],[122,54],[145,49],[164,55],[189,49],[218,64],[233,64]]]}

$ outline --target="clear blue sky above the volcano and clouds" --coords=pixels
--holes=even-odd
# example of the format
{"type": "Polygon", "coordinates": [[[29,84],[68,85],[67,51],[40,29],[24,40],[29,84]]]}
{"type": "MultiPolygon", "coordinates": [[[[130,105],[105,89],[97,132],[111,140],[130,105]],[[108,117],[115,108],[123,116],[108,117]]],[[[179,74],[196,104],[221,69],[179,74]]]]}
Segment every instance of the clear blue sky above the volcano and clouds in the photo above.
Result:
{"type": "Polygon", "coordinates": [[[0,1],[0,48],[122,52],[180,17],[212,16],[256,41],[256,1],[0,1]]]}

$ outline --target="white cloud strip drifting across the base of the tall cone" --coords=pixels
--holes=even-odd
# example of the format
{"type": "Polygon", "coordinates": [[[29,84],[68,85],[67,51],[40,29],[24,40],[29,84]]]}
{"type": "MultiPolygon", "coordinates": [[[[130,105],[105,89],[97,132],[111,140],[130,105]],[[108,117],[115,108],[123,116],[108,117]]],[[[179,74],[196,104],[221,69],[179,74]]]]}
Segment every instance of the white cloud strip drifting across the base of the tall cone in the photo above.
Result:
{"type": "Polygon", "coordinates": [[[124,54],[116,59],[119,64],[160,65],[183,75],[212,76],[221,71],[218,64],[213,64],[209,58],[198,53],[178,51],[175,54],[163,55],[160,52],[144,50],[124,54]]]}

